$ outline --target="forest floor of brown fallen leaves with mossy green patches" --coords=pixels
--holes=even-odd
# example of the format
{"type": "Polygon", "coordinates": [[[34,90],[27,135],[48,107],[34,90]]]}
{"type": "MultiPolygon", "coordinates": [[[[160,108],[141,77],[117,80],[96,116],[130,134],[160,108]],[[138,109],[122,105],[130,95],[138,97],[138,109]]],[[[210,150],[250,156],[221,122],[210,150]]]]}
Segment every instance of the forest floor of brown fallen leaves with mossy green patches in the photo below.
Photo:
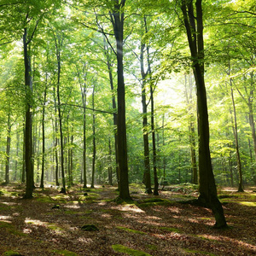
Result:
{"type": "Polygon", "coordinates": [[[256,255],[255,189],[218,189],[229,225],[218,230],[209,209],[180,202],[196,197],[189,184],[159,196],[131,184],[134,201],[123,204],[109,186],[35,189],[32,200],[22,186],[0,186],[0,255],[256,255]]]}

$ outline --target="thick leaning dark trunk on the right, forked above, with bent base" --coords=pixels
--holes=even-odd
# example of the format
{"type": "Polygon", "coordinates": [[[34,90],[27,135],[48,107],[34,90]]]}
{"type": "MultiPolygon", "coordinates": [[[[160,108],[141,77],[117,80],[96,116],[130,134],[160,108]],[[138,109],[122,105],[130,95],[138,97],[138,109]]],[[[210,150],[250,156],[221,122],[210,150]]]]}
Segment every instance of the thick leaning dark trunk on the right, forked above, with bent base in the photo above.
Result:
{"type": "Polygon", "coordinates": [[[216,184],[212,172],[212,161],[209,148],[209,121],[207,111],[207,92],[204,80],[204,45],[201,0],[196,0],[196,14],[194,14],[193,0],[182,1],[183,22],[189,41],[192,67],[195,76],[198,108],[199,130],[199,193],[198,200],[210,207],[214,214],[215,227],[225,227],[223,207],[218,201],[216,184]],[[196,20],[195,20],[196,17],[196,20]],[[196,21],[196,26],[195,26],[196,21]]]}

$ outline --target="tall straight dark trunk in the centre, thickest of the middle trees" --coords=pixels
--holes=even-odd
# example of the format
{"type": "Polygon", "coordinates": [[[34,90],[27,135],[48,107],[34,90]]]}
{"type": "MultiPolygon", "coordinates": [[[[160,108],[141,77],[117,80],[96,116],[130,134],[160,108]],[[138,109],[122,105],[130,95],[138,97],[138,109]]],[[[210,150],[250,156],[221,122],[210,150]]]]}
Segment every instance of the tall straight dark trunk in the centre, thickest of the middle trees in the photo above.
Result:
{"type": "Polygon", "coordinates": [[[125,0],[117,0],[113,13],[110,15],[114,37],[116,40],[117,74],[118,74],[118,160],[119,160],[119,198],[130,200],[128,180],[127,141],[125,124],[125,80],[123,65],[123,44],[124,44],[124,7],[125,0]]]}

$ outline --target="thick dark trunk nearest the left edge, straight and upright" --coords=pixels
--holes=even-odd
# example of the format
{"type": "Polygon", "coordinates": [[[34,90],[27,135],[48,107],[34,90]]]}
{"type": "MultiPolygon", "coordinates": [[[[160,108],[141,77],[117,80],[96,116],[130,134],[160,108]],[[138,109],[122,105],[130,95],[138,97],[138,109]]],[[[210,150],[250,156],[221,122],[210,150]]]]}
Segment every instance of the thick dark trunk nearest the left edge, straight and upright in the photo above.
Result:
{"type": "Polygon", "coordinates": [[[26,119],[25,119],[25,166],[26,166],[26,194],[24,198],[32,198],[34,187],[33,161],[32,161],[32,68],[31,58],[28,53],[27,29],[23,34],[25,85],[26,85],[26,119]]]}

